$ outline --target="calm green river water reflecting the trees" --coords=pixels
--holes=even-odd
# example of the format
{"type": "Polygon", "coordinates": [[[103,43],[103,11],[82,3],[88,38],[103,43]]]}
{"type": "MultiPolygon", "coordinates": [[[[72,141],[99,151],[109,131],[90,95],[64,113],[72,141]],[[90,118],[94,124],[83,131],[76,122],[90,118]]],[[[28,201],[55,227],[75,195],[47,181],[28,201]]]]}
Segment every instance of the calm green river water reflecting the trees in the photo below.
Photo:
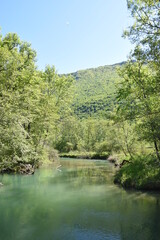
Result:
{"type": "Polygon", "coordinates": [[[126,192],[113,173],[106,161],[63,159],[0,176],[0,240],[159,240],[160,194],[126,192]]]}

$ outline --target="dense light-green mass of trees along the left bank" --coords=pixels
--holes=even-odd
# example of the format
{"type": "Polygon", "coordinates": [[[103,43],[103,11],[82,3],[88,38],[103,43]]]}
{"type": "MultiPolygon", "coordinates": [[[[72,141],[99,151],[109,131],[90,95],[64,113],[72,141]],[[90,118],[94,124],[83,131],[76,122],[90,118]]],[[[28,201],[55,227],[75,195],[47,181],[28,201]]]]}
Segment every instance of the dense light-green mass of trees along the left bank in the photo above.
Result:
{"type": "Polygon", "coordinates": [[[0,162],[6,165],[43,158],[70,99],[73,79],[54,67],[38,71],[35,57],[16,34],[0,36],[0,162]]]}

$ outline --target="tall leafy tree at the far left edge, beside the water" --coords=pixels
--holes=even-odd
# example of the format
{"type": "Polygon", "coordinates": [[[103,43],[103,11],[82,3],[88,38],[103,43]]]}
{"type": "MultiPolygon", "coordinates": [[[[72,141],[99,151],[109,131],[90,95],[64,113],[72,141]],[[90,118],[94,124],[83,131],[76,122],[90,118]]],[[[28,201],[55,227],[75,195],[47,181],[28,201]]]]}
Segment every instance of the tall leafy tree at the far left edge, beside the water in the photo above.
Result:
{"type": "Polygon", "coordinates": [[[35,159],[26,126],[31,121],[35,52],[17,34],[0,38],[1,161],[35,159]],[[30,88],[30,86],[32,86],[30,88]],[[32,89],[32,91],[31,91],[32,89]]]}

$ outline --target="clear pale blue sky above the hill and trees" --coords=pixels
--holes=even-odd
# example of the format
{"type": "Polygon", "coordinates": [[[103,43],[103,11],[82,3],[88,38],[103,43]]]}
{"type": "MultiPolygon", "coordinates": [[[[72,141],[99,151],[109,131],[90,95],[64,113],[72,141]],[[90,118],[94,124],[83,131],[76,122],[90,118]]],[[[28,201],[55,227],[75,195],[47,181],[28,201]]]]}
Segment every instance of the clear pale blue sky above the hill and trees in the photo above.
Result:
{"type": "Polygon", "coordinates": [[[131,44],[126,0],[3,0],[2,34],[16,32],[37,52],[37,65],[58,73],[126,60],[131,44]]]}

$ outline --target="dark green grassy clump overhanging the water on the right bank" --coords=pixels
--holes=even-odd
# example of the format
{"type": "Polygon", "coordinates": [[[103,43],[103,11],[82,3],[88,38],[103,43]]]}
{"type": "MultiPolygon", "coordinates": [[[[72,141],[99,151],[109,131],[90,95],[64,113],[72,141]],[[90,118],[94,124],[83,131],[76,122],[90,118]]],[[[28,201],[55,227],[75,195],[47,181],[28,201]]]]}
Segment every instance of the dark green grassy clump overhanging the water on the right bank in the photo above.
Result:
{"type": "Polygon", "coordinates": [[[126,162],[115,174],[114,183],[137,190],[160,190],[160,166],[153,157],[126,162]]]}

